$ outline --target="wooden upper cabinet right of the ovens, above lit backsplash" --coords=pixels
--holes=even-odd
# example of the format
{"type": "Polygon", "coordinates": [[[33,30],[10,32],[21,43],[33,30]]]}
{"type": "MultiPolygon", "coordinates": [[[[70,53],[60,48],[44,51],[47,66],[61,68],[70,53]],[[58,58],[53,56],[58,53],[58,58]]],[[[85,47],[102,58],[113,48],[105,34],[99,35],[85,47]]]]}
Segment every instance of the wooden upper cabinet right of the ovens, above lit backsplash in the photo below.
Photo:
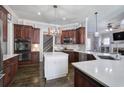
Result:
{"type": "Polygon", "coordinates": [[[40,43],[40,29],[39,28],[33,28],[31,41],[33,44],[39,44],[40,43]]]}

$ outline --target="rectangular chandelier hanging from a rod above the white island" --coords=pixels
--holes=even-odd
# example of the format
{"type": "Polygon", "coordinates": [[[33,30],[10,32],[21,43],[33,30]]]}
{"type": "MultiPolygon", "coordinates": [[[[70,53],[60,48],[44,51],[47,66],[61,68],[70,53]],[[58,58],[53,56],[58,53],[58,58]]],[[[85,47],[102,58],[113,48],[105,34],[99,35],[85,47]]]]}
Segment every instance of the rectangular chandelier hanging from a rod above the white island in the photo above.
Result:
{"type": "MultiPolygon", "coordinates": [[[[53,5],[53,8],[55,9],[55,23],[57,23],[57,5],[53,5]]],[[[66,18],[64,18],[64,20],[66,20],[66,18]]],[[[61,27],[49,27],[48,28],[48,35],[61,35],[62,33],[62,28],[61,27]]]]}

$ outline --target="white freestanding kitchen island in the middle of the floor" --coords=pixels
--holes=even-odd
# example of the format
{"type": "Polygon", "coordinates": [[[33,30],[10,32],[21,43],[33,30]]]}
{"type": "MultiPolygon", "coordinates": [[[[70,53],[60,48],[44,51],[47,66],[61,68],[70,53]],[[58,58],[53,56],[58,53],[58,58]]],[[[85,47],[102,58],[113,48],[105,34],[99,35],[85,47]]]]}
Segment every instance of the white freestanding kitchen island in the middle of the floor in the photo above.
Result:
{"type": "Polygon", "coordinates": [[[44,74],[46,80],[66,76],[68,74],[68,54],[63,52],[44,53],[44,74]]]}

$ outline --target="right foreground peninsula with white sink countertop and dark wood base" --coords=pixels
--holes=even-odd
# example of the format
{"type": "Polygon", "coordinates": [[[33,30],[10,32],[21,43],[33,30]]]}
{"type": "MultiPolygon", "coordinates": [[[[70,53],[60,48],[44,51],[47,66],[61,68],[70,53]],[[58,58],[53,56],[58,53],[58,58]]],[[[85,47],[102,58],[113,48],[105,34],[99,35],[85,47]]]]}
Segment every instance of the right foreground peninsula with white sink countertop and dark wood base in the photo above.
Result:
{"type": "MultiPolygon", "coordinates": [[[[79,51],[81,52],[81,51],[79,51]]],[[[82,52],[94,55],[96,60],[72,63],[75,69],[75,87],[124,86],[124,57],[119,60],[100,59],[98,55],[112,54],[82,52]]]]}

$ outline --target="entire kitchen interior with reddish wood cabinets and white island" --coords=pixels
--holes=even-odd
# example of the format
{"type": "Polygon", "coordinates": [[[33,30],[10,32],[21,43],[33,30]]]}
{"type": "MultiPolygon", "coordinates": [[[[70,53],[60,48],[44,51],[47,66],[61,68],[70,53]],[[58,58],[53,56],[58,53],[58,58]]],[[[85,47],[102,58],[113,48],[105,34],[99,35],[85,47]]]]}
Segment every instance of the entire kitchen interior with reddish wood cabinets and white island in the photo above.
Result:
{"type": "Polygon", "coordinates": [[[124,86],[123,8],[1,5],[0,86],[124,86]]]}

